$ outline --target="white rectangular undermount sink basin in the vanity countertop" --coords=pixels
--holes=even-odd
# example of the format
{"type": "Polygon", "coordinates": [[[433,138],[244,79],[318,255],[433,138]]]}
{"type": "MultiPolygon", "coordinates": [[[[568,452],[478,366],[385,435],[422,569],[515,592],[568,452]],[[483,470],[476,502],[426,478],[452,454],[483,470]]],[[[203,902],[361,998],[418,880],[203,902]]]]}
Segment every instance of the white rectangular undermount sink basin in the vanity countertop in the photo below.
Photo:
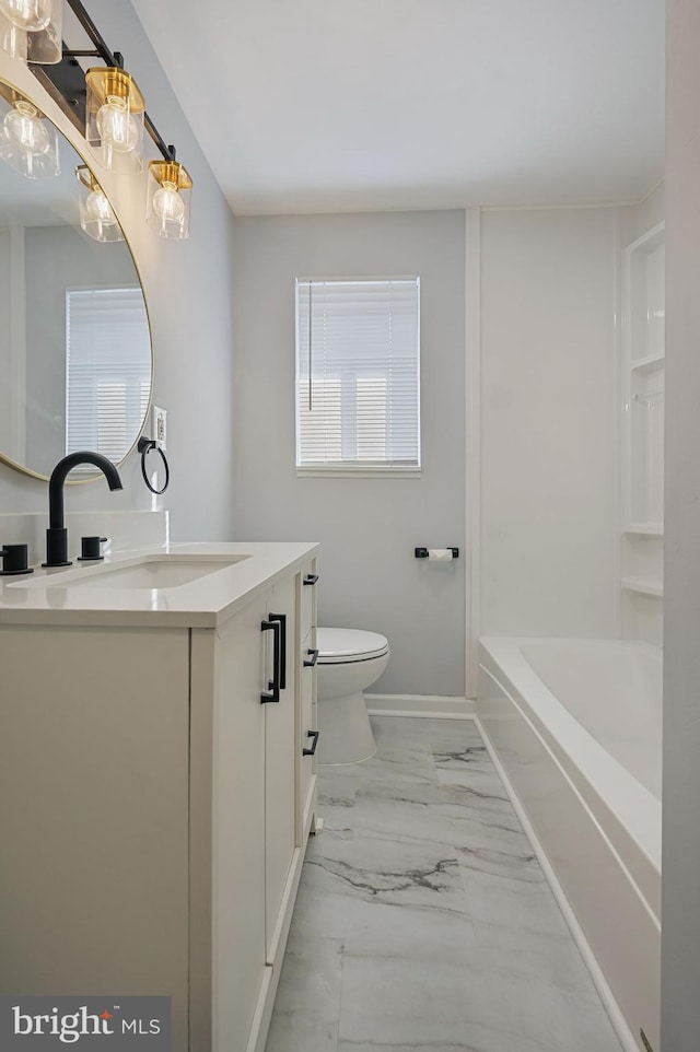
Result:
{"type": "Polygon", "coordinates": [[[249,559],[249,556],[186,556],[162,554],[144,557],[142,561],[104,563],[65,570],[59,573],[24,577],[13,582],[13,587],[25,588],[118,588],[152,589],[178,588],[209,574],[249,559]]]}

